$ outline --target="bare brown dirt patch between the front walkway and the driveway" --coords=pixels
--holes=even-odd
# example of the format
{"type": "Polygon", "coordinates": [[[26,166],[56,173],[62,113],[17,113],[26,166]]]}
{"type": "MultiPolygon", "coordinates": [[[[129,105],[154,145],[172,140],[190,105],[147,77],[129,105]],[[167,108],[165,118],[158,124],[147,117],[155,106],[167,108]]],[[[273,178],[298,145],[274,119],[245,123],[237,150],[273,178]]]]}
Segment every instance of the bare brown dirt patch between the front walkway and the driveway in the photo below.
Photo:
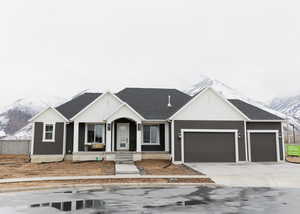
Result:
{"type": "Polygon", "coordinates": [[[202,175],[185,165],[170,164],[167,160],[142,160],[135,164],[144,175],[202,175]]]}

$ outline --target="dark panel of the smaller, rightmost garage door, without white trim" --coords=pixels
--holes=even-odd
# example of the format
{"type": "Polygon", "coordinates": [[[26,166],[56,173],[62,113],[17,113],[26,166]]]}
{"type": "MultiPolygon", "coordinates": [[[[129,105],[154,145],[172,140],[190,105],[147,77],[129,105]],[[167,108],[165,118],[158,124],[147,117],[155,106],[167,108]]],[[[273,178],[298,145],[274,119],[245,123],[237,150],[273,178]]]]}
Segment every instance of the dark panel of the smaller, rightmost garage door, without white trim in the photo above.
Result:
{"type": "Polygon", "coordinates": [[[251,161],[277,161],[276,134],[250,133],[251,161]]]}

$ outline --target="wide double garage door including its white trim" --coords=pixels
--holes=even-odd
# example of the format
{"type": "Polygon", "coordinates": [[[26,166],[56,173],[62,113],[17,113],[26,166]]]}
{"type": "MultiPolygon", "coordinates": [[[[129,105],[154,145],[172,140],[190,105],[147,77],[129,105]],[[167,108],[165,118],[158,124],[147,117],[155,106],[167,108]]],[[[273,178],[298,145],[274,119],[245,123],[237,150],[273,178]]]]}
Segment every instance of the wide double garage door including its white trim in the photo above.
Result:
{"type": "Polygon", "coordinates": [[[185,129],[182,130],[184,162],[237,162],[238,131],[185,129]]]}

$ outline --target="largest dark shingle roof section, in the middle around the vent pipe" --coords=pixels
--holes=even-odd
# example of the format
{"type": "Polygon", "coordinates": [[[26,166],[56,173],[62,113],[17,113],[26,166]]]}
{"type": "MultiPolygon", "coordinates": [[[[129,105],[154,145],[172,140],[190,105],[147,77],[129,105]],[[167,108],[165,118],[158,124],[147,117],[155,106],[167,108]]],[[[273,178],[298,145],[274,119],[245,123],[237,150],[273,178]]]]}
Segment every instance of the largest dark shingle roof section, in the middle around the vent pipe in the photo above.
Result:
{"type": "Polygon", "coordinates": [[[168,119],[192,98],[177,89],[161,88],[125,88],[116,95],[149,120],[168,119]],[[168,96],[172,107],[168,107],[168,96]]]}

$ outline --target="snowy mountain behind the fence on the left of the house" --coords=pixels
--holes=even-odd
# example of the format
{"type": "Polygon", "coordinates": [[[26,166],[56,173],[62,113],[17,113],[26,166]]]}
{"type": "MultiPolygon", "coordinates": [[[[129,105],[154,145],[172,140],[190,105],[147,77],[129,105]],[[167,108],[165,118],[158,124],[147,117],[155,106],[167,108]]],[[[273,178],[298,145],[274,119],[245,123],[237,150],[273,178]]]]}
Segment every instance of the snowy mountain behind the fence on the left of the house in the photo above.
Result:
{"type": "Polygon", "coordinates": [[[0,109],[0,138],[28,139],[31,135],[28,120],[47,106],[56,106],[62,102],[64,99],[60,97],[28,97],[0,109]]]}

